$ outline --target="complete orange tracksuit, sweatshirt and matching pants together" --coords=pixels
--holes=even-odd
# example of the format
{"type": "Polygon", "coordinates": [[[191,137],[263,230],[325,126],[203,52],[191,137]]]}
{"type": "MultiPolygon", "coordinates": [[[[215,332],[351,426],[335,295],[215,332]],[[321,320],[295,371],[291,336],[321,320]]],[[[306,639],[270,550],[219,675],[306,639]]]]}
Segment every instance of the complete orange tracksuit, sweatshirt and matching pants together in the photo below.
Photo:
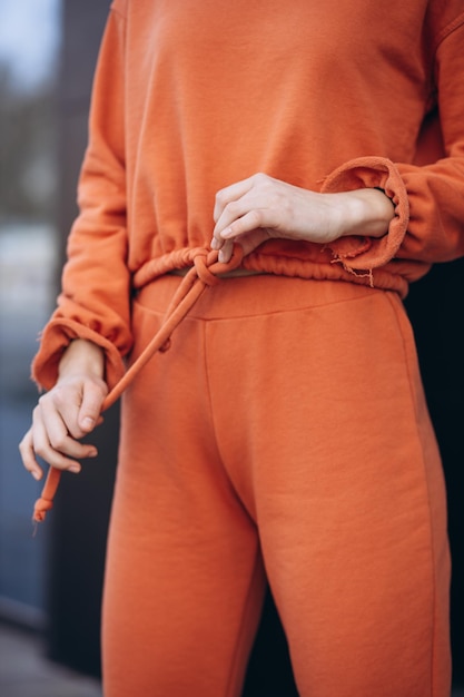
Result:
{"type": "Polygon", "coordinates": [[[36,380],[85,337],[112,387],[186,287],[169,272],[213,287],[124,396],[107,697],[238,696],[265,579],[303,696],[447,696],[445,495],[401,297],[464,253],[463,39],[463,0],[112,3],[36,380]],[[395,218],[269,240],[216,284],[215,193],[259,170],[382,188],[395,218]]]}

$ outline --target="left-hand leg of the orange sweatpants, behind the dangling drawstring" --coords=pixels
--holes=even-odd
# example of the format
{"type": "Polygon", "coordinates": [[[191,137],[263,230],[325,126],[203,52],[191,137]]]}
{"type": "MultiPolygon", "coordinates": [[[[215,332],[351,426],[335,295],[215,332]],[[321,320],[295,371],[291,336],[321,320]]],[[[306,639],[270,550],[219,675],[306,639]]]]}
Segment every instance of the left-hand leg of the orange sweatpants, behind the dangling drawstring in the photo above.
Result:
{"type": "MultiPolygon", "coordinates": [[[[159,316],[135,315],[137,353],[159,316]]],[[[240,693],[265,579],[211,431],[201,345],[200,323],[186,321],[125,395],[103,599],[108,697],[240,693]]]]}

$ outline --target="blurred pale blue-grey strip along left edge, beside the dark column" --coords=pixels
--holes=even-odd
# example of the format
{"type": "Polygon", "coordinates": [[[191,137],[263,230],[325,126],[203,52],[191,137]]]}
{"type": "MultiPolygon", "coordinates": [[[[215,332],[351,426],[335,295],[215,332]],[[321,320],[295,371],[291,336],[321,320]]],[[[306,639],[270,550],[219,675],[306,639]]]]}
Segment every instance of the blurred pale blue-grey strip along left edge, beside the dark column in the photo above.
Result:
{"type": "Polygon", "coordinates": [[[30,536],[24,513],[36,487],[18,472],[14,440],[34,399],[28,363],[58,261],[60,8],[57,0],[26,4],[0,0],[0,609],[18,603],[17,612],[40,625],[46,540],[30,536]]]}

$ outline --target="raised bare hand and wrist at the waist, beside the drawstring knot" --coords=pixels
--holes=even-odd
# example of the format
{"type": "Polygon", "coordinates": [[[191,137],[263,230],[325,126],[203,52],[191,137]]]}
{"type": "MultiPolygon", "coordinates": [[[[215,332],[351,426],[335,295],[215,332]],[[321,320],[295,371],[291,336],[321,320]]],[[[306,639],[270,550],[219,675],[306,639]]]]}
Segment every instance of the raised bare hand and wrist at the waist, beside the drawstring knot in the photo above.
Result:
{"type": "Polygon", "coordinates": [[[256,174],[216,195],[211,248],[227,263],[235,242],[246,255],[273,237],[318,244],[344,235],[381,237],[393,216],[378,189],[320,194],[256,174]]]}

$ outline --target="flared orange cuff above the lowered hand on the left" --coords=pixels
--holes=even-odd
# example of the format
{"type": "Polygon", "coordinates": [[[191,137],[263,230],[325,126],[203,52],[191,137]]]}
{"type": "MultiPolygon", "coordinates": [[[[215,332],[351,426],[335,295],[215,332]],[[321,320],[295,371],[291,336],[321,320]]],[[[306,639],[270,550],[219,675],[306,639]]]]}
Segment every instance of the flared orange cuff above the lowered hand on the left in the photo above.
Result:
{"type": "Polygon", "coordinates": [[[72,320],[52,320],[43,330],[39,352],[32,361],[32,380],[43,390],[51,390],[58,379],[63,351],[73,338],[86,338],[105,351],[105,380],[111,390],[126,372],[115,344],[105,336],[72,320]]]}

